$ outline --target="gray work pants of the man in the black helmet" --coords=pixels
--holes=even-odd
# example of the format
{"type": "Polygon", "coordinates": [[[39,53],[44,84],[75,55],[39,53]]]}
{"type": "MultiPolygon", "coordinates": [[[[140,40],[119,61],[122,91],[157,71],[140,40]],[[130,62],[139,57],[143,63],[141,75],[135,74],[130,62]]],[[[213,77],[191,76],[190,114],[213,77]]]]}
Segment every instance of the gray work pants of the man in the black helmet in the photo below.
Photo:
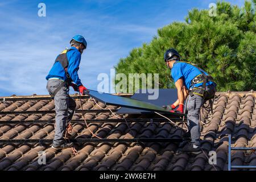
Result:
{"type": "MultiPolygon", "coordinates": [[[[205,92],[207,92],[207,96],[214,96],[216,88],[213,85],[206,86],[205,92]]],[[[188,129],[191,133],[191,143],[200,146],[199,114],[200,108],[204,104],[204,98],[193,94],[193,96],[189,95],[187,100],[188,129]]]]}

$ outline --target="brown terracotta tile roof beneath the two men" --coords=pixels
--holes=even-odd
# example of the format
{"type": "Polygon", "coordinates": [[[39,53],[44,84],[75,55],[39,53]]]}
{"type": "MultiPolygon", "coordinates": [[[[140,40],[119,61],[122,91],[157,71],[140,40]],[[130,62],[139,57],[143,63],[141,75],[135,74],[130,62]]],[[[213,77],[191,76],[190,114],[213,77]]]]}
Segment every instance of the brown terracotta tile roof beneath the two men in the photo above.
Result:
{"type": "MultiPolygon", "coordinates": [[[[33,96],[34,97],[34,96],[33,96]]],[[[55,114],[53,100],[29,100],[0,102],[0,139],[53,139],[55,114]],[[21,114],[1,114],[1,111],[19,111],[21,114]],[[42,111],[28,114],[26,111],[42,111]],[[20,121],[20,124],[1,123],[20,121]],[[53,121],[51,123],[23,123],[26,121],[53,121]]],[[[32,97],[31,97],[32,98],[32,97]]],[[[76,99],[76,110],[81,110],[76,99]]],[[[117,106],[104,105],[104,109],[117,106]]],[[[207,103],[205,104],[207,105],[207,103]]],[[[100,109],[90,98],[82,99],[83,109],[100,109]]],[[[119,114],[118,118],[130,117],[119,114]]],[[[141,115],[138,116],[141,118],[141,115]]],[[[147,118],[147,115],[143,115],[147,118]]],[[[151,116],[152,117],[152,116],[151,116]]],[[[172,138],[180,137],[181,131],[168,121],[161,122],[108,122],[118,119],[112,113],[85,113],[86,119],[106,119],[106,122],[90,122],[89,129],[102,138],[172,138]],[[131,129],[131,130],[130,130],[131,129]]],[[[131,118],[137,118],[134,115],[131,118]]],[[[160,118],[160,117],[159,117],[160,118]]],[[[217,152],[217,164],[210,165],[206,156],[176,154],[176,143],[77,143],[78,155],[73,156],[71,148],[53,150],[49,144],[0,144],[0,170],[227,170],[228,137],[233,135],[233,146],[256,147],[255,93],[217,93],[213,104],[213,114],[201,110],[201,145],[205,151],[217,152]],[[46,152],[47,164],[38,164],[38,152],[46,152]]],[[[82,114],[76,112],[73,119],[83,121],[82,114]]],[[[177,122],[181,126],[181,122],[177,122]]],[[[90,138],[92,134],[83,122],[72,123],[71,137],[90,138]]],[[[256,165],[256,155],[247,151],[233,151],[232,165],[256,165]]]]}

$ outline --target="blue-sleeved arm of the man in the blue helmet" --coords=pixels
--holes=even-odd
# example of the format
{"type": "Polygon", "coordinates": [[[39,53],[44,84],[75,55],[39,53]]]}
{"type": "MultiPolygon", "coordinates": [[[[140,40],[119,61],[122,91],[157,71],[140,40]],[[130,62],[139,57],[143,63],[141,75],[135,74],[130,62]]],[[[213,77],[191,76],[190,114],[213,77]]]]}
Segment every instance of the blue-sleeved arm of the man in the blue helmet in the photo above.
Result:
{"type": "Polygon", "coordinates": [[[73,82],[75,82],[77,86],[82,85],[81,80],[77,73],[77,71],[79,70],[80,61],[81,61],[81,53],[75,52],[75,51],[72,52],[72,55],[70,56],[69,64],[68,64],[68,73],[71,79],[73,80],[73,82]]]}

